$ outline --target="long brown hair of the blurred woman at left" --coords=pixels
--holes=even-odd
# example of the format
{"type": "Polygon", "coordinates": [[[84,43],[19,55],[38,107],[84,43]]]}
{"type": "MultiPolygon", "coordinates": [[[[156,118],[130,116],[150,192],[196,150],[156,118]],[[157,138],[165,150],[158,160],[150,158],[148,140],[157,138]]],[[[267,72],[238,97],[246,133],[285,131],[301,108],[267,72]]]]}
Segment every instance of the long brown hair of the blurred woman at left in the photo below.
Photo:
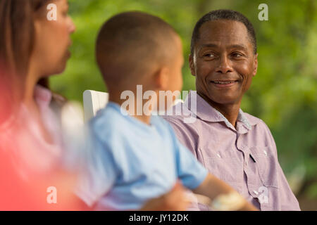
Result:
{"type": "MultiPolygon", "coordinates": [[[[23,98],[30,56],[36,41],[35,15],[41,13],[48,1],[0,1],[0,124],[23,98]]],[[[38,84],[49,88],[47,78],[40,79],[38,84]]],[[[65,99],[58,94],[53,96],[54,100],[65,99]]]]}

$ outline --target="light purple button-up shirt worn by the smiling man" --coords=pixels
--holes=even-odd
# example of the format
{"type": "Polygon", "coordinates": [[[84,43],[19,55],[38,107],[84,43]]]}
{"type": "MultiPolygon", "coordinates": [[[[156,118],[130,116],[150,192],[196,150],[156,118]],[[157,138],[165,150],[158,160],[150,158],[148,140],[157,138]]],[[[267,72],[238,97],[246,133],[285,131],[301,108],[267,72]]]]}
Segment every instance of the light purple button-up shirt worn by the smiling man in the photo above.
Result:
{"type": "MultiPolygon", "coordinates": [[[[300,210],[278,162],[271,131],[262,120],[240,110],[235,128],[196,91],[190,91],[182,104],[181,115],[163,118],[211,174],[259,210],[300,210]],[[191,107],[191,101],[196,101],[197,109],[191,107]],[[186,123],[186,115],[197,120],[186,123]]],[[[208,207],[199,204],[199,209],[208,207]]]]}

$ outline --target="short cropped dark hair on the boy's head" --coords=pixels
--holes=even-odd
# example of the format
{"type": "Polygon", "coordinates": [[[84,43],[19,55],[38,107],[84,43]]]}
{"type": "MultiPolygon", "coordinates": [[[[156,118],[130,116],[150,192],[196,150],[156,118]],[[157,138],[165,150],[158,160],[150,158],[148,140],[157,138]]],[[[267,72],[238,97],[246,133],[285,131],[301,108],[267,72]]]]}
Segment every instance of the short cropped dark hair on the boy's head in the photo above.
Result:
{"type": "Polygon", "coordinates": [[[132,11],[110,18],[101,27],[96,44],[97,63],[106,84],[135,84],[173,58],[173,27],[160,18],[132,11]]]}

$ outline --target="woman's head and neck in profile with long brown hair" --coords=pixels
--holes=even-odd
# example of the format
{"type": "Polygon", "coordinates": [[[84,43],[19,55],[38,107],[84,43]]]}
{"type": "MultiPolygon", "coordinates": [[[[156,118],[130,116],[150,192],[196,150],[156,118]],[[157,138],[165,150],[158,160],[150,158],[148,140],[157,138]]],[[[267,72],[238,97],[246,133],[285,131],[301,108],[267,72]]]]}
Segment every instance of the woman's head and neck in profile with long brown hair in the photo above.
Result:
{"type": "MultiPolygon", "coordinates": [[[[14,86],[15,102],[39,111],[37,83],[48,86],[48,77],[63,72],[70,57],[70,34],[75,31],[66,0],[4,0],[0,2],[0,62],[14,86]],[[56,5],[57,20],[48,20],[46,8],[56,5]]],[[[37,112],[38,115],[39,112],[37,112]]]]}

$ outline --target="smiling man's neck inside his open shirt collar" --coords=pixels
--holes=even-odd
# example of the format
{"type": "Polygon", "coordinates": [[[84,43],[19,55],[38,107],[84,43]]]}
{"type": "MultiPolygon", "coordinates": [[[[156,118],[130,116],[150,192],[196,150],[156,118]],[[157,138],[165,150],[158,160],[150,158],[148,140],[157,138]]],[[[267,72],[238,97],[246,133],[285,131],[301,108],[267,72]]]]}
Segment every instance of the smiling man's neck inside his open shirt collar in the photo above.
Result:
{"type": "Polygon", "coordinates": [[[211,101],[211,99],[209,99],[207,96],[204,96],[204,94],[199,94],[199,96],[204,98],[204,100],[209,103],[209,105],[218,110],[219,113],[221,113],[230,122],[230,124],[235,127],[237,117],[239,115],[241,101],[238,101],[237,103],[219,104],[211,101]]]}

